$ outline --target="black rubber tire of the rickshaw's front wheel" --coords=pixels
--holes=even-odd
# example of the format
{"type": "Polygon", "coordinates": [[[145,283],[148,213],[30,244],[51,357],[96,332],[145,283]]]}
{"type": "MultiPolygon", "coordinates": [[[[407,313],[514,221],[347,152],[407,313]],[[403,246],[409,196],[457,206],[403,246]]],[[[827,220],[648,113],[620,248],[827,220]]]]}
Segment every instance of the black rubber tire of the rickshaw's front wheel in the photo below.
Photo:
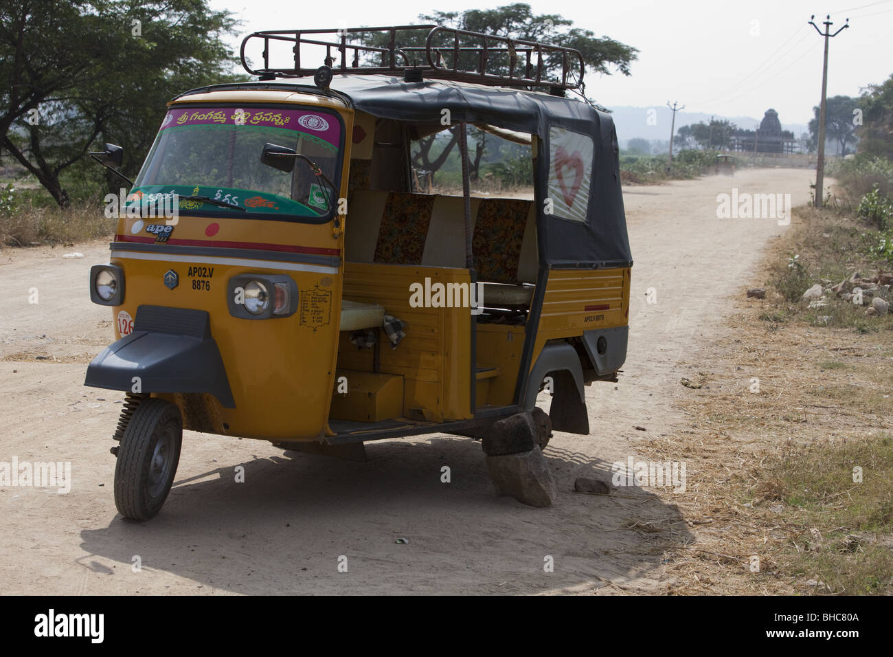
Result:
{"type": "Polygon", "coordinates": [[[183,420],[176,406],[154,398],[140,402],[121,437],[114,468],[114,503],[124,518],[148,520],[162,509],[177,474],[182,442],[183,420]],[[149,492],[149,470],[155,445],[166,430],[173,432],[173,463],[164,477],[163,489],[153,496],[149,492]]]}

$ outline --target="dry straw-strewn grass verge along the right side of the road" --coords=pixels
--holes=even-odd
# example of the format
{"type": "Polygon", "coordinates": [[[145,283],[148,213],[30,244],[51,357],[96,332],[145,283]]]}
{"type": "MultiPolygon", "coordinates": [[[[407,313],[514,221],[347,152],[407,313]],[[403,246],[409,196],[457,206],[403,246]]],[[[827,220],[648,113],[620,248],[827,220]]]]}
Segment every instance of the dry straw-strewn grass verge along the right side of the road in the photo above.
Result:
{"type": "MultiPolygon", "coordinates": [[[[764,274],[797,247],[817,267],[839,266],[807,248],[837,221],[799,215],[764,274]]],[[[864,266],[857,253],[840,257],[864,266]]],[[[688,463],[687,490],[672,501],[697,540],[666,555],[670,593],[893,593],[890,318],[844,307],[853,321],[817,325],[805,302],[774,292],[742,290],[721,339],[680,364],[704,383],[680,402],[689,427],[643,445],[648,459],[688,463]],[[856,319],[868,330],[854,330],[856,319]]]]}

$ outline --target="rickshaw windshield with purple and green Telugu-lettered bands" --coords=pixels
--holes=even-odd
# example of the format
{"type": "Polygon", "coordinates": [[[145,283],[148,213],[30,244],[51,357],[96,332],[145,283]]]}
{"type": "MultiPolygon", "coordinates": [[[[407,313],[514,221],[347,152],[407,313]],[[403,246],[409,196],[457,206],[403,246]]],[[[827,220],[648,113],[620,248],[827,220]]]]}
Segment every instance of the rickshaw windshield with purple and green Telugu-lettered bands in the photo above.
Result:
{"type": "Polygon", "coordinates": [[[288,172],[261,163],[265,143],[293,148],[338,185],[342,133],[338,115],[290,107],[172,107],[134,183],[130,202],[146,203],[176,193],[180,211],[297,220],[330,215],[338,195],[305,160],[296,158],[288,172]],[[221,202],[246,212],[227,210],[221,202]]]}

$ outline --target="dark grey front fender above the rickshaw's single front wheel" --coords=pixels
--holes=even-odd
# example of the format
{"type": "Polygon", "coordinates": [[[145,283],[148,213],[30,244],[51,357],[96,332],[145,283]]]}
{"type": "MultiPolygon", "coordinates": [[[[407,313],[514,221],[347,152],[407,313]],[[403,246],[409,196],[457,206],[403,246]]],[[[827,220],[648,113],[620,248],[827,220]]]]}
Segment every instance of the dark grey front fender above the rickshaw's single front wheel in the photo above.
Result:
{"type": "Polygon", "coordinates": [[[236,407],[211,318],[204,310],[140,306],[133,333],[106,347],[87,367],[84,384],[132,392],[208,392],[236,407]]]}

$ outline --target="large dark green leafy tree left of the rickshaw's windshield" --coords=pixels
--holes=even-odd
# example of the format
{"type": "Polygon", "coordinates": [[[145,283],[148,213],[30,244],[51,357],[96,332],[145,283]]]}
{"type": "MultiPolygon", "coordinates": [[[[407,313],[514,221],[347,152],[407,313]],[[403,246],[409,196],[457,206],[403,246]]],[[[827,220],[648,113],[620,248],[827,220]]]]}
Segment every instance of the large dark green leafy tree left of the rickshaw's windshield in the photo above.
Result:
{"type": "Polygon", "coordinates": [[[11,0],[0,7],[2,147],[60,206],[97,138],[135,173],[176,91],[225,79],[234,21],[206,0],[11,0]]]}

